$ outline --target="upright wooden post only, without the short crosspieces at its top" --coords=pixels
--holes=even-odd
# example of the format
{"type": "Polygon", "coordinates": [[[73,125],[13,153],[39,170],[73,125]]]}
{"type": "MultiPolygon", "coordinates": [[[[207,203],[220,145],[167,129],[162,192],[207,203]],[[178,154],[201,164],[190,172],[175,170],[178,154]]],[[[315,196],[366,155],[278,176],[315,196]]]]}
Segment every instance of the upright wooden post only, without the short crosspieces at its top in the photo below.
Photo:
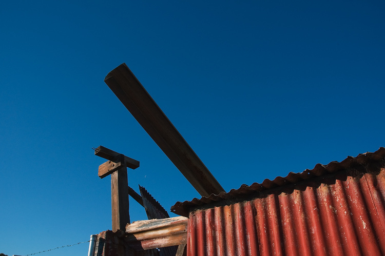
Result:
{"type": "Polygon", "coordinates": [[[120,169],[111,173],[111,209],[112,231],[125,230],[130,223],[128,203],[127,167],[122,165],[120,169]]]}

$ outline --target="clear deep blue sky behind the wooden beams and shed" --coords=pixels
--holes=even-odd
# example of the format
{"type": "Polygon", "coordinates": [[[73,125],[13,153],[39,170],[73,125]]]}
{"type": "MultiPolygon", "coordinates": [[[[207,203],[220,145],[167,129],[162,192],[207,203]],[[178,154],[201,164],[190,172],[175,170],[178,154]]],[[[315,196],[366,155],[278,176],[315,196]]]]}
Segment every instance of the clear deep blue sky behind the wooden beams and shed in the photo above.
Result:
{"type": "MultiPolygon", "coordinates": [[[[139,160],[129,185],[167,210],[199,198],[104,83],[123,62],[226,191],[385,146],[384,13],[383,1],[2,3],[0,252],[111,229],[99,145],[139,160]]],[[[130,202],[131,221],[146,219],[130,202]]]]}

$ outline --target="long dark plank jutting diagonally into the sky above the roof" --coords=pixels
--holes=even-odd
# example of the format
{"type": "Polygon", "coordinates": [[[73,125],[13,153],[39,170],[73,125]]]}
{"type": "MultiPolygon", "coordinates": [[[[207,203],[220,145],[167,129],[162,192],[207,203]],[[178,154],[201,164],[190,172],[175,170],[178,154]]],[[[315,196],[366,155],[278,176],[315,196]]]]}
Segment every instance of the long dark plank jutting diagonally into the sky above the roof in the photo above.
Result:
{"type": "Polygon", "coordinates": [[[109,72],[104,82],[202,196],[224,191],[126,64],[109,72]]]}

